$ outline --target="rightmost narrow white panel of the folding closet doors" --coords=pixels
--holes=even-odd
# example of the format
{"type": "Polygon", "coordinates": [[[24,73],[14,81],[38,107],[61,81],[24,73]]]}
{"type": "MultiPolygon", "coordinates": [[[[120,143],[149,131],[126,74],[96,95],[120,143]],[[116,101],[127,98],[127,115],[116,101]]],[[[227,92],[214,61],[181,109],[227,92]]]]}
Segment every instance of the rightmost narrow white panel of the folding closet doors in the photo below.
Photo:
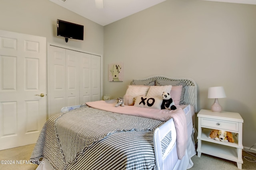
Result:
{"type": "Polygon", "coordinates": [[[92,71],[92,89],[91,89],[91,94],[92,94],[92,101],[98,101],[100,100],[100,56],[97,55],[91,55],[91,71],[92,71]]]}

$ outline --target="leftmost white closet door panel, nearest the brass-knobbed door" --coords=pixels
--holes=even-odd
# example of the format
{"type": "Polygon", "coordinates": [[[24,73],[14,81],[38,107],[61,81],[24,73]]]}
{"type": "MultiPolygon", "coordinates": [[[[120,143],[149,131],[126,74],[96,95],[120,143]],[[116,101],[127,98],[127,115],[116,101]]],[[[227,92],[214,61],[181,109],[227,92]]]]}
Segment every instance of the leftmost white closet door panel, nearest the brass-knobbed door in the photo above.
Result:
{"type": "Polygon", "coordinates": [[[48,117],[66,105],[66,49],[48,46],[48,117]]]}

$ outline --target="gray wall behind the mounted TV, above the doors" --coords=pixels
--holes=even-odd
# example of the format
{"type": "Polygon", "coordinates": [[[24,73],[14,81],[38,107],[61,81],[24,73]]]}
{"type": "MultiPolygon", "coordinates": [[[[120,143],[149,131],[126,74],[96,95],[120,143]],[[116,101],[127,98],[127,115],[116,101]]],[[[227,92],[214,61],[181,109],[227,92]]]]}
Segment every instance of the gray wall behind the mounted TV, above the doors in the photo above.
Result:
{"type": "Polygon", "coordinates": [[[0,29],[46,37],[48,43],[103,55],[104,27],[49,0],[0,0],[0,29]],[[84,41],[57,36],[57,19],[84,25],[84,41]]]}

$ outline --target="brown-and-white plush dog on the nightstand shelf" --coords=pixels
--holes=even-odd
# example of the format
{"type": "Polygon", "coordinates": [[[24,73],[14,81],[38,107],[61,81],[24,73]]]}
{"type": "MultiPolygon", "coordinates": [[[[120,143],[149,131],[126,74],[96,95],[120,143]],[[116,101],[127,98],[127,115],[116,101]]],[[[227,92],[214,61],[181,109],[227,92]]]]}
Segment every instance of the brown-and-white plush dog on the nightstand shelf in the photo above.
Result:
{"type": "Polygon", "coordinates": [[[231,142],[234,143],[233,135],[231,132],[222,130],[212,130],[210,132],[209,138],[215,139],[216,141],[231,142]]]}

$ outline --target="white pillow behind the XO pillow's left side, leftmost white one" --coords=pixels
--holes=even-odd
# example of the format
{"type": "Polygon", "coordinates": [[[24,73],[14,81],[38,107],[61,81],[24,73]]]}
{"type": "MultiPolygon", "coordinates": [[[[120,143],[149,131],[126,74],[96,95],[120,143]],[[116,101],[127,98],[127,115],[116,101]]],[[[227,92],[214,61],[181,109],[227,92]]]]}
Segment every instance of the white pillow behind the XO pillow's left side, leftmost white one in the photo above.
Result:
{"type": "Polygon", "coordinates": [[[137,86],[137,85],[128,85],[126,90],[126,96],[132,96],[136,98],[137,96],[146,96],[150,86],[137,86]]]}

